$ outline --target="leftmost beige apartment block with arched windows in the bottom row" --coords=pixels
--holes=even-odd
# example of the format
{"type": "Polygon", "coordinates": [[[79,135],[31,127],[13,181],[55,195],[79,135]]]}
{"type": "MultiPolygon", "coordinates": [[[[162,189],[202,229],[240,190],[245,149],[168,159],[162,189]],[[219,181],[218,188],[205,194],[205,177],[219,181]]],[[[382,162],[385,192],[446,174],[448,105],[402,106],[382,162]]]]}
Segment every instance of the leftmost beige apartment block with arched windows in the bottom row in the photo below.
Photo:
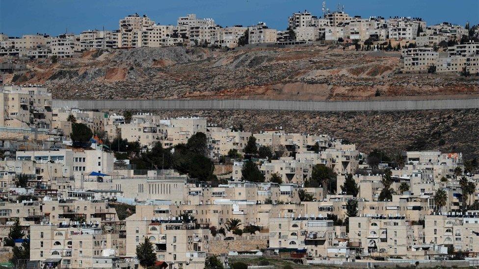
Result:
{"type": "Polygon", "coordinates": [[[30,259],[45,268],[127,268],[124,232],[98,223],[30,226],[30,259]],[[98,263],[102,264],[99,267],[98,263]]]}

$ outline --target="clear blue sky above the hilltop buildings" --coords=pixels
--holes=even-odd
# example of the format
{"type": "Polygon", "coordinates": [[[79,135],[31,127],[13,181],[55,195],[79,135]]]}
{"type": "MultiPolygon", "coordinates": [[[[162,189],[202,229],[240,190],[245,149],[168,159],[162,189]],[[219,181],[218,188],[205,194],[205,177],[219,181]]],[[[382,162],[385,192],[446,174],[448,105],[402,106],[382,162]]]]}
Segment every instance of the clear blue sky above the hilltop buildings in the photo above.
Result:
{"type": "MultiPolygon", "coordinates": [[[[327,0],[338,2],[349,15],[422,17],[427,24],[479,23],[479,0],[327,0]]],[[[276,29],[287,27],[287,17],[307,9],[321,15],[321,0],[0,0],[0,32],[10,36],[36,32],[58,35],[86,29],[113,30],[118,20],[137,12],[156,23],[176,24],[179,16],[196,13],[217,24],[252,25],[259,21],[276,29]]]]}

